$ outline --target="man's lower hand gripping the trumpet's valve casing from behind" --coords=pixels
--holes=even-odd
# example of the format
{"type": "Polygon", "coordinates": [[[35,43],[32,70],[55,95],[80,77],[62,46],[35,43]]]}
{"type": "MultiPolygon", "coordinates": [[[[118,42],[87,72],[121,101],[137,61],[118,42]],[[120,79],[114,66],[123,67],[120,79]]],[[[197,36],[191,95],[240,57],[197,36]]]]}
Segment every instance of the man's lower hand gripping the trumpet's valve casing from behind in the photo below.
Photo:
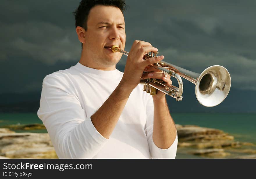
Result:
{"type": "MultiPolygon", "coordinates": [[[[165,75],[161,71],[153,68],[152,66],[147,66],[144,69],[145,73],[141,76],[141,79],[147,79],[147,78],[155,78],[155,79],[161,79],[164,82],[167,83],[167,85],[172,84],[172,80],[170,79],[170,75],[165,75]]],[[[156,95],[152,95],[153,100],[161,100],[165,97],[165,93],[162,93],[161,91],[157,90],[156,95]]]]}

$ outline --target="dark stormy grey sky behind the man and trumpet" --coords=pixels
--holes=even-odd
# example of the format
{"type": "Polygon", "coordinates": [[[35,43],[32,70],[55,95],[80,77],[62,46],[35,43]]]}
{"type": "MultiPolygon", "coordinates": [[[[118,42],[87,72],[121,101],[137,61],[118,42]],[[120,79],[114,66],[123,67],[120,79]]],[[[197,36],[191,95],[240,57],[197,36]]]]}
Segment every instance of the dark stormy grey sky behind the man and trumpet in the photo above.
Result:
{"type": "MultiPolygon", "coordinates": [[[[232,89],[256,92],[256,1],[126,4],[126,51],[134,40],[148,41],[166,62],[197,73],[222,65],[230,72],[232,89]]],[[[78,5],[79,0],[1,1],[0,94],[40,91],[47,74],[79,61],[72,15],[78,5]]]]}

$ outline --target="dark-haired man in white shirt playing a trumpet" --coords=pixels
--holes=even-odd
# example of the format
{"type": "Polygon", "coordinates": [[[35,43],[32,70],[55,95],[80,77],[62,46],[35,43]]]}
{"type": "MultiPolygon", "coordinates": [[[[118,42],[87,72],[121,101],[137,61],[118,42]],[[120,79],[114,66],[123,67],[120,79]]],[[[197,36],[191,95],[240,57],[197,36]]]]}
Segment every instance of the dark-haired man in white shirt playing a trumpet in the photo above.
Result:
{"type": "Polygon", "coordinates": [[[149,65],[163,56],[143,60],[157,48],[134,41],[124,73],[115,69],[125,48],[122,0],[82,0],[76,32],[82,43],[79,63],[47,75],[38,117],[59,158],[175,158],[177,131],[165,94],[142,90],[141,78],[162,79],[149,65]],[[144,73],[146,71],[148,73],[144,73]]]}

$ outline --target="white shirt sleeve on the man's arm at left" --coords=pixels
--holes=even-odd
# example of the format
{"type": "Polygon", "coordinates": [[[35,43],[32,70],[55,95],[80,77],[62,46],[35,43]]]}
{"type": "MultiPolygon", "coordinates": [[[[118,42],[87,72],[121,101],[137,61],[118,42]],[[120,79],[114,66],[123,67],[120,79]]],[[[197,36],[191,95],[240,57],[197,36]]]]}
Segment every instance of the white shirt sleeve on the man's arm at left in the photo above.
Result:
{"type": "Polygon", "coordinates": [[[42,84],[38,117],[59,158],[92,158],[108,141],[94,127],[62,75],[47,75],[42,84]]]}

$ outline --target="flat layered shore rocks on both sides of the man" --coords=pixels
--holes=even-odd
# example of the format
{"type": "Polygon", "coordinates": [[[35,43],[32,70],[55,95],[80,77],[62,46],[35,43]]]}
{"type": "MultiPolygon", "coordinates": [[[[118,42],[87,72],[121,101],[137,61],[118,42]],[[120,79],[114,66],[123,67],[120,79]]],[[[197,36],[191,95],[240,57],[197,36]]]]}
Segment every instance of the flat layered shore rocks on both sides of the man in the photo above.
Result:
{"type": "MultiPolygon", "coordinates": [[[[42,124],[11,125],[0,128],[0,158],[58,158],[48,133],[16,133],[13,130],[45,129],[42,124]]],[[[200,158],[256,158],[256,146],[239,142],[218,129],[176,124],[177,154],[200,158]]]]}

